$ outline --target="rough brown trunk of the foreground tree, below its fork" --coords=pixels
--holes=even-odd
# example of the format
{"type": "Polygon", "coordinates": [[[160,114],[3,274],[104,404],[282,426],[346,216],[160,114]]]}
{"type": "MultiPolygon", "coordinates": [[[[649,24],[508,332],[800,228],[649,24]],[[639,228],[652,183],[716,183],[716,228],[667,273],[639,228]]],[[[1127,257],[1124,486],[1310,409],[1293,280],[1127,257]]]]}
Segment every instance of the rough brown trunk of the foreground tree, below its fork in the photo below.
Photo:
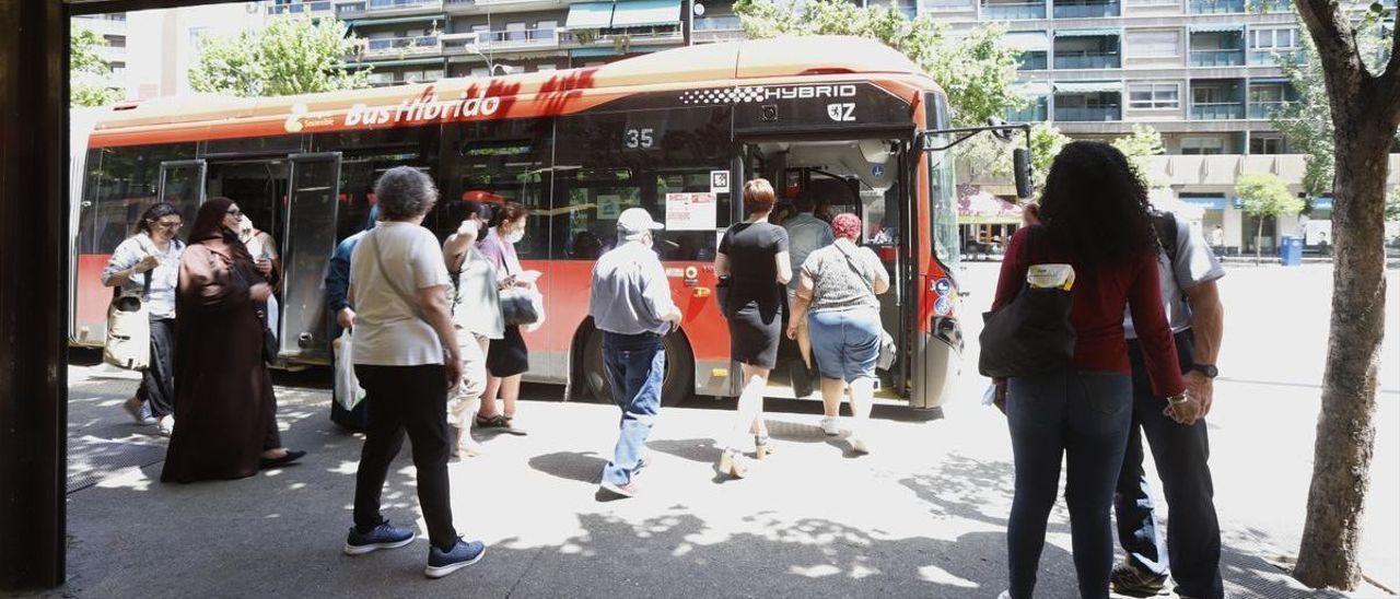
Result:
{"type": "MultiPolygon", "coordinates": [[[[1338,104],[1333,98],[1333,111],[1338,104]]],[[[1308,586],[1345,591],[1361,581],[1361,516],[1376,434],[1376,369],[1386,326],[1385,182],[1393,134],[1368,119],[1350,120],[1336,133],[1331,332],[1308,521],[1294,570],[1308,586]]]]}

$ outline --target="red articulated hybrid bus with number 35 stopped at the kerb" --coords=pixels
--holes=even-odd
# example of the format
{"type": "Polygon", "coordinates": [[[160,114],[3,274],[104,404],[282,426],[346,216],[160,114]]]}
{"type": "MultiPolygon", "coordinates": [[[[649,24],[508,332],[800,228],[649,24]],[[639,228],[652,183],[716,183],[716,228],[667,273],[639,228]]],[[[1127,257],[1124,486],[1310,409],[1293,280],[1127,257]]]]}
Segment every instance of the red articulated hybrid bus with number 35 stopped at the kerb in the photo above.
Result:
{"type": "MultiPolygon", "coordinates": [[[[78,119],[74,120],[77,123],[78,119]]],[[[900,347],[882,389],[931,409],[951,396],[962,351],[952,160],[924,151],[946,129],[938,87],[903,55],[851,38],[690,46],[602,67],[283,98],[185,97],[118,105],[74,125],[74,344],[101,346],[111,298],[99,272],[151,202],[185,221],[206,197],[238,202],[281,245],[281,358],[326,362],[322,277],[365,224],[385,169],[420,168],[442,192],[424,225],[451,232],[461,197],[531,210],[517,251],[539,270],[547,322],[525,336],[529,381],[608,393],[588,319],[594,260],[617,213],[666,224],[658,251],[685,312],[665,340],[666,403],[734,396],[738,368],[714,297],[715,245],[742,220],[742,182],[806,188],[857,213],[883,258],[882,316],[900,347]]],[[[776,372],[783,372],[783,365],[776,372]]],[[[777,378],[781,382],[781,378],[777,378]]],[[[774,395],[781,395],[773,389],[774,395]]]]}

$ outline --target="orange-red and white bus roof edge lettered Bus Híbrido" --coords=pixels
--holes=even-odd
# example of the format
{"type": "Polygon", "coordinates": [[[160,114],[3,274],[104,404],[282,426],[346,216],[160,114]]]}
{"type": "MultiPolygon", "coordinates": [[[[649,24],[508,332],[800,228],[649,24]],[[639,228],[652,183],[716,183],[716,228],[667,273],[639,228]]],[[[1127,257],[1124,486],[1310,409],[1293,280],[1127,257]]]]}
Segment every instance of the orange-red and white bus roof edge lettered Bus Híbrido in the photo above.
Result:
{"type": "Polygon", "coordinates": [[[445,78],[272,98],[192,94],[126,102],[104,111],[91,146],[564,115],[644,91],[724,83],[750,85],[757,80],[798,77],[848,80],[851,76],[875,76],[900,80],[923,91],[937,90],[904,55],[876,41],[777,38],[676,48],[599,67],[504,77],[445,78]]]}

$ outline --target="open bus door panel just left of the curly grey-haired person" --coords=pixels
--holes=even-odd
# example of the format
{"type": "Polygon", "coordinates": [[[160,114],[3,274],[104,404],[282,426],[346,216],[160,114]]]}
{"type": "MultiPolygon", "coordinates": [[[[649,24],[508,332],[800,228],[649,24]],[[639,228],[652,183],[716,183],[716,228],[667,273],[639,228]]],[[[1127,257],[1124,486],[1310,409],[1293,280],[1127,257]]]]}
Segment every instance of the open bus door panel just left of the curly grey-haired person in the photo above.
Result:
{"type": "Polygon", "coordinates": [[[323,277],[336,248],[340,153],[294,154],[283,231],[281,357],[329,360],[323,277]]]}

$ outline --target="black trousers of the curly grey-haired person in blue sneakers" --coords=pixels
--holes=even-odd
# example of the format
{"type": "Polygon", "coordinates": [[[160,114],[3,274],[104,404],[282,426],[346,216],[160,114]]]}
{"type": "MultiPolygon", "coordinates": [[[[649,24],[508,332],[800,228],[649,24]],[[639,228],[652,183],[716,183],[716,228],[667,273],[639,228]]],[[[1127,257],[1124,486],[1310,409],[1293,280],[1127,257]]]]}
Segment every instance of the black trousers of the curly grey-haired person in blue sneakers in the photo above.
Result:
{"type": "Polygon", "coordinates": [[[451,480],[447,462],[452,441],[447,427],[447,372],[441,364],[419,367],[356,365],[356,376],[374,402],[368,402],[360,470],[356,473],[354,525],[368,532],[384,522],[379,494],[389,463],[403,448],[403,434],[413,442],[419,470],[419,504],[428,523],[428,540],[449,550],[456,543],[452,528],[451,480]]]}

